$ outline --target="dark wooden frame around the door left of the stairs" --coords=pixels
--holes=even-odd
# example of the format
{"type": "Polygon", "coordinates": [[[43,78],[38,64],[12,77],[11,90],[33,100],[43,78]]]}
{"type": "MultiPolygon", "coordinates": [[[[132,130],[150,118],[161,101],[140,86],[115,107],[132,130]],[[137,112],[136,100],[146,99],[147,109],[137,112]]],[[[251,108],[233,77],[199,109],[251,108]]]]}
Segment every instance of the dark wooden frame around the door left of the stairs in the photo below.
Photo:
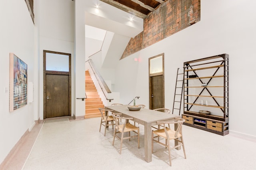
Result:
{"type": "Polygon", "coordinates": [[[69,79],[69,116],[71,116],[71,54],[70,53],[62,53],[62,52],[56,52],[56,51],[48,51],[43,50],[43,76],[44,76],[44,119],[46,119],[46,74],[56,74],[56,75],[68,75],[69,79]],[[61,55],[68,55],[68,67],[69,71],[47,71],[46,70],[46,53],[54,53],[54,54],[61,54],[61,55]]]}

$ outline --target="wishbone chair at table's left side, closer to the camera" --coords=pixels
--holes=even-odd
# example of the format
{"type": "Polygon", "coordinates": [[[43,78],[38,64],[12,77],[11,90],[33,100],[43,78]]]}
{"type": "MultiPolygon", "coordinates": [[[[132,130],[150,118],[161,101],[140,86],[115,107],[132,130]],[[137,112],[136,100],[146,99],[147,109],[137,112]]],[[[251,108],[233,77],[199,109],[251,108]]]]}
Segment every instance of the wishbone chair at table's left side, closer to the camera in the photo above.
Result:
{"type": "Polygon", "coordinates": [[[114,121],[116,122],[116,128],[114,130],[112,145],[114,145],[115,137],[117,137],[121,141],[119,154],[121,154],[121,152],[122,152],[122,143],[123,143],[124,139],[129,139],[129,141],[130,141],[131,138],[138,137],[138,148],[140,148],[140,128],[128,123],[128,121],[132,120],[133,118],[126,118],[126,117],[121,117],[118,115],[112,115],[112,116],[114,118],[114,121]],[[121,125],[121,119],[125,120],[124,124],[122,124],[122,125],[121,125]],[[135,130],[137,130],[137,132],[135,130]],[[130,132],[132,132],[132,131],[134,133],[136,133],[137,135],[131,136],[130,132]],[[129,136],[124,137],[124,132],[128,132],[129,136]],[[121,133],[121,137],[118,136],[118,133],[121,133]]]}

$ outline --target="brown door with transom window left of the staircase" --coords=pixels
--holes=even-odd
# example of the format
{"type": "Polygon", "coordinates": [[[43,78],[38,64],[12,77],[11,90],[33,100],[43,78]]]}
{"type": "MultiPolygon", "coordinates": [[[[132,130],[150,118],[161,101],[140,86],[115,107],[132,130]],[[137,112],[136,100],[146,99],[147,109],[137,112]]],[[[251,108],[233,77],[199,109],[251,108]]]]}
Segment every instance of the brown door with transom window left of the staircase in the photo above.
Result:
{"type": "Polygon", "coordinates": [[[44,119],[71,116],[71,54],[44,50],[44,119]]]}

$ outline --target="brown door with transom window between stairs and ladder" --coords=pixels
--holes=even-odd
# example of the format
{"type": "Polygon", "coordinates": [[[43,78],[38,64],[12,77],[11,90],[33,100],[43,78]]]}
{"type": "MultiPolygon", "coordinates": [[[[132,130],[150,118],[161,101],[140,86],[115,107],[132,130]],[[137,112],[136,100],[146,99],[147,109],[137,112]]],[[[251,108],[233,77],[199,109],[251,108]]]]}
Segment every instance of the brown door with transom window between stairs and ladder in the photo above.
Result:
{"type": "Polygon", "coordinates": [[[149,108],[164,108],[164,54],[149,58],[149,108]]]}

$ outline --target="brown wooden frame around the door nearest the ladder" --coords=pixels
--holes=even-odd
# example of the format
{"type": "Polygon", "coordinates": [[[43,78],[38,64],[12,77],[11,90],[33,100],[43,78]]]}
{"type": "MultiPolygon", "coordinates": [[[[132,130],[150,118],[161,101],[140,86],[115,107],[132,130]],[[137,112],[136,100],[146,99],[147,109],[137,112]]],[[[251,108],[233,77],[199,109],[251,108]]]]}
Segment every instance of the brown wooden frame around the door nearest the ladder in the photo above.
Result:
{"type": "Polygon", "coordinates": [[[154,57],[150,57],[148,58],[148,80],[149,80],[149,109],[152,107],[152,100],[151,100],[151,91],[152,91],[152,81],[151,81],[151,77],[157,76],[157,75],[162,75],[163,79],[162,79],[162,83],[163,83],[163,108],[164,108],[164,53],[155,55],[154,57]],[[162,72],[158,72],[158,73],[150,73],[150,60],[154,59],[156,57],[160,57],[162,56],[162,72]]]}

